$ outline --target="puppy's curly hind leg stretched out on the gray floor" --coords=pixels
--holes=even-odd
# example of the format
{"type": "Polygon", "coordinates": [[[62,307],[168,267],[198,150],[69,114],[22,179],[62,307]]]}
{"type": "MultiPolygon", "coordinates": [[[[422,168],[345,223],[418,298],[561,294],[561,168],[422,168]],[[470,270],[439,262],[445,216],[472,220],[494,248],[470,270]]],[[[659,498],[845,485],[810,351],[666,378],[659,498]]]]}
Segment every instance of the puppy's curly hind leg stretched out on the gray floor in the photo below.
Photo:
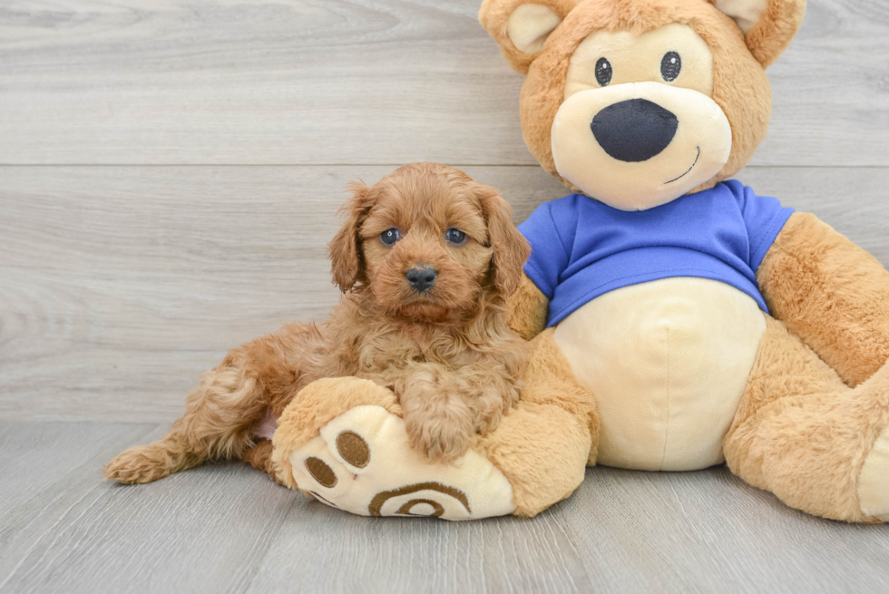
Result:
{"type": "Polygon", "coordinates": [[[105,467],[105,478],[152,482],[208,460],[243,457],[250,446],[250,425],[265,410],[266,399],[256,378],[226,363],[201,375],[200,385],[185,401],[186,413],[170,433],[118,455],[105,467]]]}

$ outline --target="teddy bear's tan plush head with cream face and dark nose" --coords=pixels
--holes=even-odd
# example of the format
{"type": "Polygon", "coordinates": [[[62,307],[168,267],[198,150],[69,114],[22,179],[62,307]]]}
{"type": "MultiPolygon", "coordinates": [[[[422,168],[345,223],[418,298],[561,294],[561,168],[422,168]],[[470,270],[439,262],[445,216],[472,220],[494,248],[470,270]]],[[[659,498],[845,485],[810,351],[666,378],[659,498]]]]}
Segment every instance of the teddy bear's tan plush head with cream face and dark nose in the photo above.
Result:
{"type": "Polygon", "coordinates": [[[484,0],[527,74],[524,140],[572,190],[650,209],[738,172],[766,135],[765,69],[806,0],[484,0]]]}

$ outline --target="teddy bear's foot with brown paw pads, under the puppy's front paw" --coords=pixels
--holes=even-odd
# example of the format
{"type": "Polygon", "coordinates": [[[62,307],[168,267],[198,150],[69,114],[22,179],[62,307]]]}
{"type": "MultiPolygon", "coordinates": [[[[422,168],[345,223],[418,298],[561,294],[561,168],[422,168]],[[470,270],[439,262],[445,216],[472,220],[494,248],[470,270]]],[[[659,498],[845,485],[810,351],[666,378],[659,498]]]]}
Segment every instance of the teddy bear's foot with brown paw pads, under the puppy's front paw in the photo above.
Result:
{"type": "Polygon", "coordinates": [[[429,463],[410,447],[396,396],[355,377],[306,386],[278,419],[278,478],[332,507],[366,516],[469,520],[514,509],[503,473],[470,450],[429,463]]]}

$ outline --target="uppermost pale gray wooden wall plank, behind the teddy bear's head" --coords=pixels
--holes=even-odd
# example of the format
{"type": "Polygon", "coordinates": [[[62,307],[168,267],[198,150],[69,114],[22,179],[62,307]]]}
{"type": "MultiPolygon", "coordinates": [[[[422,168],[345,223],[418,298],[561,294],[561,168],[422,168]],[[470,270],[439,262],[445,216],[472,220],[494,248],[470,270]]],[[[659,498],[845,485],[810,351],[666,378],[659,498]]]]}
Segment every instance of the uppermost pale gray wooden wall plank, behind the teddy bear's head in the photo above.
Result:
{"type": "MultiPolygon", "coordinates": [[[[532,164],[479,0],[0,5],[0,163],[532,164]]],[[[889,8],[811,0],[752,161],[889,165],[889,8]]]]}

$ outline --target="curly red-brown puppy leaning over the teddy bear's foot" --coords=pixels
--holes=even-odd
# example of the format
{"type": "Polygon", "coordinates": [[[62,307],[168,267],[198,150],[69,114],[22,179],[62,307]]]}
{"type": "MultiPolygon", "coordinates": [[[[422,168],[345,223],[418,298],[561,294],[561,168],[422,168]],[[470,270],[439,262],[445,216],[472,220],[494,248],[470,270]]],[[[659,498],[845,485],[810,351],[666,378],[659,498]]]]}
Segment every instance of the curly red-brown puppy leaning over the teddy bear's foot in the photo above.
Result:
{"type": "Polygon", "coordinates": [[[344,296],[320,324],[289,324],[230,351],[200,378],[159,442],[105,467],[151,482],[209,460],[244,459],[274,476],[274,420],[322,377],[392,389],[411,445],[431,461],[463,455],[518,400],[526,350],[506,325],[530,248],[493,188],[434,163],[352,184],[330,243],[344,296]]]}

